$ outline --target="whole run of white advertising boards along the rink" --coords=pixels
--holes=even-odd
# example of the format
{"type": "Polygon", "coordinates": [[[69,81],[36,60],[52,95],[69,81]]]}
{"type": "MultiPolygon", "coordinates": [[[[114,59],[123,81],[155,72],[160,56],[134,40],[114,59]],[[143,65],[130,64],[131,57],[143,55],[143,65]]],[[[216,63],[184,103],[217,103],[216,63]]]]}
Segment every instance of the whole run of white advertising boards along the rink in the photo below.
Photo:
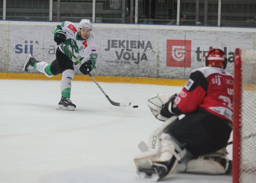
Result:
{"type": "MultiPolygon", "coordinates": [[[[52,34],[54,26],[9,25],[9,66],[8,71],[2,69],[2,72],[22,73],[28,53],[38,61],[52,63],[57,49],[52,34]]],[[[255,49],[253,32],[158,27],[94,27],[92,35],[98,46],[99,59],[92,74],[187,79],[192,69],[204,66],[204,54],[212,47],[225,51],[227,70],[233,73],[235,48],[255,49]]],[[[75,68],[75,74],[81,75],[78,67],[75,68]]],[[[35,70],[30,72],[38,73],[35,70]]]]}

